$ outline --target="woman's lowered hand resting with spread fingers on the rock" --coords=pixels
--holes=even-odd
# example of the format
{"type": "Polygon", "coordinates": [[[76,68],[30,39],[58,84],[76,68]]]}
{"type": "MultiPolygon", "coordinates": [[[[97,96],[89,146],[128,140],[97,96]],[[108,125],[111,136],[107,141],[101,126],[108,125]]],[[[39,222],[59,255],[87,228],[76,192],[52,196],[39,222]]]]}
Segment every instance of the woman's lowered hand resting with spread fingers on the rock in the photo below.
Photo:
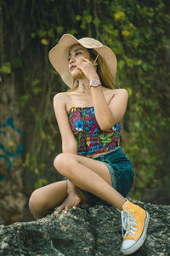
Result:
{"type": "Polygon", "coordinates": [[[71,207],[76,210],[80,202],[81,198],[79,195],[77,195],[77,193],[70,193],[65,198],[65,201],[63,201],[62,204],[54,211],[54,213],[58,214],[59,212],[65,210],[66,214],[71,207]]]}

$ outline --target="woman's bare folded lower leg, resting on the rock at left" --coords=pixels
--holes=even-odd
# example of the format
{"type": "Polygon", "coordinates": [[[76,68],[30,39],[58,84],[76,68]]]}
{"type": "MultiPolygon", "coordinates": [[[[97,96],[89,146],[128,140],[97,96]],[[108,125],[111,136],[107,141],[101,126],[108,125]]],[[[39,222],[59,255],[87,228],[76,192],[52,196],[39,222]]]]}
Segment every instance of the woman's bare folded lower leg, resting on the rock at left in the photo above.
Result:
{"type": "MultiPolygon", "coordinates": [[[[82,201],[86,197],[79,191],[82,201]]],[[[36,189],[29,201],[29,207],[34,218],[45,217],[48,213],[54,211],[54,207],[59,206],[67,196],[67,181],[60,181],[36,189]]]]}

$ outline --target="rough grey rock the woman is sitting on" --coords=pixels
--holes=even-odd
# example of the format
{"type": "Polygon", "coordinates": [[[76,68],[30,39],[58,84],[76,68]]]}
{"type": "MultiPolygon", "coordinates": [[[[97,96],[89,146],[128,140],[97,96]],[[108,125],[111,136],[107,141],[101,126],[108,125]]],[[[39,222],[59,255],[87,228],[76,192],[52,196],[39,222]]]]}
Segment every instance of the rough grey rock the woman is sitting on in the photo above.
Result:
{"type": "MultiPolygon", "coordinates": [[[[133,255],[170,255],[170,207],[137,203],[150,212],[148,236],[133,255]]],[[[0,255],[122,255],[121,214],[114,207],[82,203],[66,215],[0,226],[0,255]]]]}

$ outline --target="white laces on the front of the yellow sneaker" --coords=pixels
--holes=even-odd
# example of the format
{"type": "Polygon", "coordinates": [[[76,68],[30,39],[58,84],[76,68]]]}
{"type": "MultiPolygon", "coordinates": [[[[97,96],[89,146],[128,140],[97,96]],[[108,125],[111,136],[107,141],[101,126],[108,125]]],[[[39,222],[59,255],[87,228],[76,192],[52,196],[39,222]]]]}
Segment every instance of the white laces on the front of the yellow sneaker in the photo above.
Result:
{"type": "Polygon", "coordinates": [[[136,235],[136,220],[129,211],[122,211],[122,237],[136,235]],[[124,232],[125,231],[125,232],[124,232]]]}

